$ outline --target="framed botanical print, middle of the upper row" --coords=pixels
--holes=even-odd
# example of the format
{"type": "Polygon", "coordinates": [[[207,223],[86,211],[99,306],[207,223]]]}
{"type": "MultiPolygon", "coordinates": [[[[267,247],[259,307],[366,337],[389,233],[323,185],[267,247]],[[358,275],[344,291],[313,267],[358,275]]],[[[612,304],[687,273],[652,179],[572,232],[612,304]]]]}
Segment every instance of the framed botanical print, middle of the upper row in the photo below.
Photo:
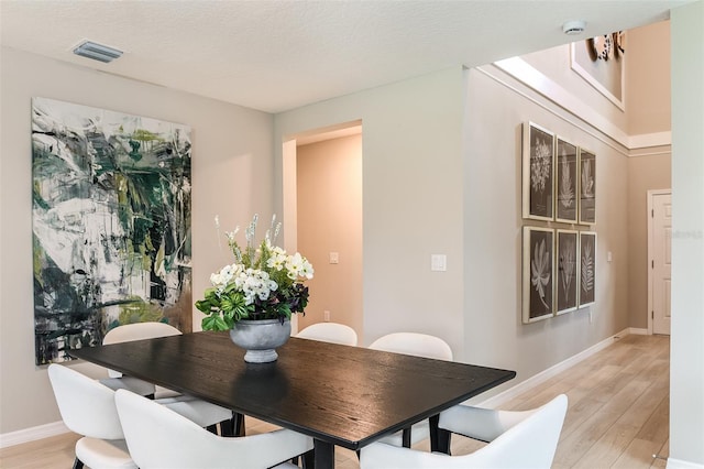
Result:
{"type": "Polygon", "coordinates": [[[576,146],[558,137],[556,148],[554,219],[565,223],[576,223],[576,146]]]}

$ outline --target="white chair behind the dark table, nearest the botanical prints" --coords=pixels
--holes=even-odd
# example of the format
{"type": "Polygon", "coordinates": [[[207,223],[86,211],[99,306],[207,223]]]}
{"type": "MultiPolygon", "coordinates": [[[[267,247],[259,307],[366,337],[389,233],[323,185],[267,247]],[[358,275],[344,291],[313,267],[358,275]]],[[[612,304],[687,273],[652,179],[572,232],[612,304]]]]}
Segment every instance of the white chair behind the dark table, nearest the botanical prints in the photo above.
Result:
{"type": "MultiPolygon", "coordinates": [[[[384,350],[395,353],[405,353],[416,357],[432,358],[436,360],[452,361],[452,349],[439,337],[419,332],[393,332],[382,336],[369,347],[374,350],[384,350]]],[[[380,441],[395,446],[410,447],[430,437],[428,421],[414,424],[403,432],[383,437],[380,441]],[[410,432],[410,435],[408,435],[410,432]],[[404,438],[405,437],[405,438],[404,438]],[[406,444],[404,444],[406,439],[406,444]]]]}

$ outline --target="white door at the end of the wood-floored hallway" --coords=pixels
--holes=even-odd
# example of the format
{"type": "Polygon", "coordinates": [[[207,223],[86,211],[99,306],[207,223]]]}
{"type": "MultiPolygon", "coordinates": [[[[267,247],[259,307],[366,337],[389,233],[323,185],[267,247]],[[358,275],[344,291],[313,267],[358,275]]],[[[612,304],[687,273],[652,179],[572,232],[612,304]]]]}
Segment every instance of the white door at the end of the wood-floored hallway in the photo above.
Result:
{"type": "Polygon", "coordinates": [[[652,334],[670,335],[672,195],[652,194],[651,204],[652,334]]]}

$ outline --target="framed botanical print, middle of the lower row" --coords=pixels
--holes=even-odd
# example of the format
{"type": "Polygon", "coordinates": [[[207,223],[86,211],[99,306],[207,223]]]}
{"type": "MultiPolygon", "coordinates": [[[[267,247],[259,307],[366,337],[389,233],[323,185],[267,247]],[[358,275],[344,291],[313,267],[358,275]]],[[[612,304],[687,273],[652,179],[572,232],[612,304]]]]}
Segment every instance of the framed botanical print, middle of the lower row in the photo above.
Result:
{"type": "Polygon", "coordinates": [[[557,230],[556,314],[576,309],[579,294],[578,232],[557,230]]]}

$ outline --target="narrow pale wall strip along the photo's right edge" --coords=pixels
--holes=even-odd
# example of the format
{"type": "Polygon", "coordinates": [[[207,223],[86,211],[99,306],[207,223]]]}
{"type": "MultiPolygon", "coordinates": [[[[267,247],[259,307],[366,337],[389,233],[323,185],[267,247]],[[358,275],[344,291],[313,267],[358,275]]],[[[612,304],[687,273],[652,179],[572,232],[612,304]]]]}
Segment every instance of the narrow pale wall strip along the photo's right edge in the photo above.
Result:
{"type": "Polygon", "coordinates": [[[704,467],[704,2],[672,11],[669,468],[704,467]]]}

